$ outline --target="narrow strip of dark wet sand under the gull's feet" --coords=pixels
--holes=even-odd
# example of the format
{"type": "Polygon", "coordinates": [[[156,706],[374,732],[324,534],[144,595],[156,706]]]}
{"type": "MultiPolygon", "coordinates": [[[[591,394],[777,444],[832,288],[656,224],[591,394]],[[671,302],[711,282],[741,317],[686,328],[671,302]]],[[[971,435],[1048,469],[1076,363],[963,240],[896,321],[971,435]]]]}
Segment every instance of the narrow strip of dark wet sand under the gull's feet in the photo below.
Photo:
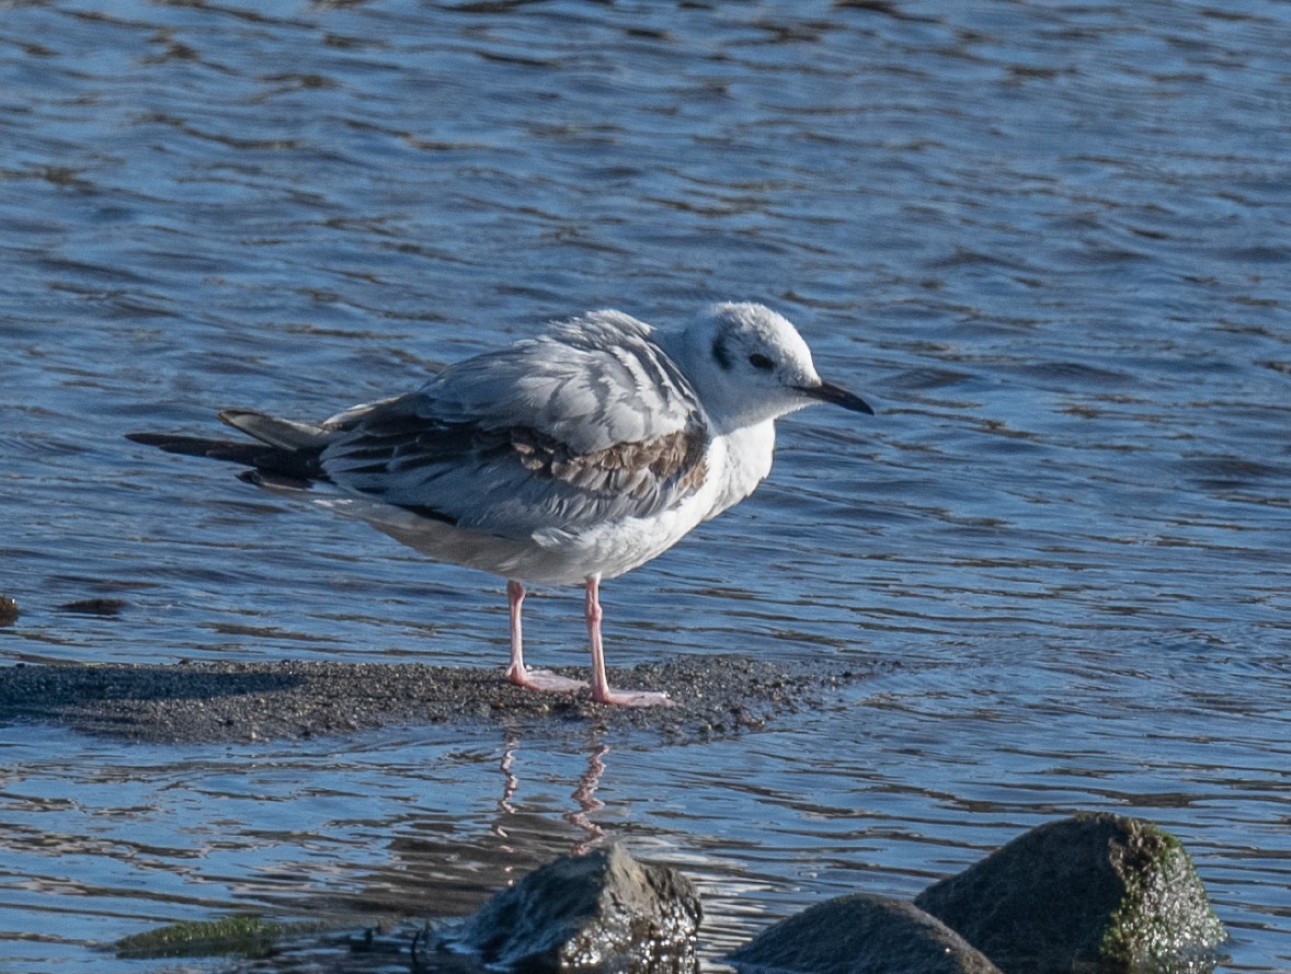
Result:
{"type": "MultiPolygon", "coordinates": [[[[564,676],[586,679],[577,668],[564,676]]],[[[609,707],[582,693],[534,693],[501,670],[417,663],[182,662],[17,664],[0,670],[0,722],[54,722],[150,742],[300,739],[423,724],[585,724],[704,738],[778,713],[840,703],[870,671],[740,655],[675,657],[612,670],[612,686],[665,690],[673,707],[609,707]]]]}

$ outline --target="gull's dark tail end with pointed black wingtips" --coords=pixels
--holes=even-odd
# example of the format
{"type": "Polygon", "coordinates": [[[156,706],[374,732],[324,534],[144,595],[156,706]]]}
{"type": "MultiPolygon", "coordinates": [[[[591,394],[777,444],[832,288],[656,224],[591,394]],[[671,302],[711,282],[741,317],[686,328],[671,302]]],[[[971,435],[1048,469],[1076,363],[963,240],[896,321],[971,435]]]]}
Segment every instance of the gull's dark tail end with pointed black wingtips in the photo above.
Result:
{"type": "Polygon", "coordinates": [[[219,418],[258,442],[172,433],[127,433],[125,439],[167,453],[240,463],[249,470],[239,476],[259,486],[300,490],[328,479],[320,463],[323,448],[330,439],[328,430],[278,419],[252,409],[225,409],[219,418]]]}

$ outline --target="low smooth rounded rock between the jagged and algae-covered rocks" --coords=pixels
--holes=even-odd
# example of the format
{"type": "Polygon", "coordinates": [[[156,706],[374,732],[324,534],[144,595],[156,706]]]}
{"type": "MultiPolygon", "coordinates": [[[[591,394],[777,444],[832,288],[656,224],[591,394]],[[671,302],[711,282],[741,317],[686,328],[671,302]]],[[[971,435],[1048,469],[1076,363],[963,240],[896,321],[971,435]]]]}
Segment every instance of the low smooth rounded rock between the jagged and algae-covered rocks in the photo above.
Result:
{"type": "Polygon", "coordinates": [[[936,917],[868,893],[782,920],[727,960],[741,974],[999,974],[936,917]]]}

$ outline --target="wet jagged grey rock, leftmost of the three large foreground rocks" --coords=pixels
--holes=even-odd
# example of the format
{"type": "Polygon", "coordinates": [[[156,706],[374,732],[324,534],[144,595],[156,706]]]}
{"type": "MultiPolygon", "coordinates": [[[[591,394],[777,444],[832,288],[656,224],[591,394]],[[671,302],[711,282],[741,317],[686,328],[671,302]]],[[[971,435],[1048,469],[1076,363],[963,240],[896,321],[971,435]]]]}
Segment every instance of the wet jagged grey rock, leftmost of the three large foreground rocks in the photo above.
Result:
{"type": "Polygon", "coordinates": [[[440,946],[524,974],[693,974],[700,916],[686,876],[612,845],[531,872],[440,946]]]}

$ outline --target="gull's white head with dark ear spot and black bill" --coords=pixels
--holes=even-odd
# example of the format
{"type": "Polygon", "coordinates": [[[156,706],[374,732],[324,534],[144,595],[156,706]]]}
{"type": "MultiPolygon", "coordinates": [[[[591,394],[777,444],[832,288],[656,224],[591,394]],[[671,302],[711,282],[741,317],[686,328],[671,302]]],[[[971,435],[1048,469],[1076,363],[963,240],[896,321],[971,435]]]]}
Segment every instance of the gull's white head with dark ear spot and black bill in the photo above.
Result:
{"type": "Polygon", "coordinates": [[[874,412],[860,396],[821,379],[798,329],[764,304],[714,304],[683,337],[683,369],[709,415],[728,428],[813,403],[874,412]]]}

